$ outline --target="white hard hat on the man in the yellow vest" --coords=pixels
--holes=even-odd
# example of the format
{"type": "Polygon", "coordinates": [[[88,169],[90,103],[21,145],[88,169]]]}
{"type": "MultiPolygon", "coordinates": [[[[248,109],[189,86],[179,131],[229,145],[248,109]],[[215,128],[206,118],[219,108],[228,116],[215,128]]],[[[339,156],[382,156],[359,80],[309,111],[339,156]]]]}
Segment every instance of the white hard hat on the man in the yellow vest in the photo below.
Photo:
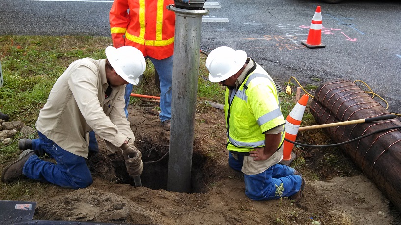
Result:
{"type": "Polygon", "coordinates": [[[245,51],[220,46],[212,50],[206,59],[210,82],[221,82],[237,73],[247,59],[245,51]]]}

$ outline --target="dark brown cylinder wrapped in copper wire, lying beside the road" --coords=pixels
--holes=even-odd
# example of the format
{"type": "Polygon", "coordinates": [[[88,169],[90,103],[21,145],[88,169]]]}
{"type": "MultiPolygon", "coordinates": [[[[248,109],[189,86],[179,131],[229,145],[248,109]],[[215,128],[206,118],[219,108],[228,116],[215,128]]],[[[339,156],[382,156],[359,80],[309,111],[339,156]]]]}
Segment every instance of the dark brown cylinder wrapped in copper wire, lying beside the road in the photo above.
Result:
{"type": "MultiPolygon", "coordinates": [[[[349,121],[390,114],[372,94],[349,80],[333,80],[317,88],[310,111],[319,124],[349,121]]],[[[325,128],[335,143],[401,126],[397,119],[325,128]]],[[[401,210],[401,130],[390,129],[354,141],[340,148],[401,210]]],[[[355,187],[358,188],[358,187],[355,187]]]]}

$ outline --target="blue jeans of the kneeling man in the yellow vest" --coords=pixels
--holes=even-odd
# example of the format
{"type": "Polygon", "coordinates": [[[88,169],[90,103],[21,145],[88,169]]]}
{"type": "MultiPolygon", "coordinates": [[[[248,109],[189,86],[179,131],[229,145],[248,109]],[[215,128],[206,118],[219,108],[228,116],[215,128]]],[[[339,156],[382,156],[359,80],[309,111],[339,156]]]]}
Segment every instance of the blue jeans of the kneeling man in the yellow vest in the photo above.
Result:
{"type": "MultiPolygon", "coordinates": [[[[238,155],[235,159],[229,152],[229,165],[232,169],[241,171],[244,157],[238,155]]],[[[281,164],[275,164],[260,174],[244,174],[245,195],[255,201],[278,199],[276,196],[276,185],[283,184],[284,191],[281,197],[289,197],[301,189],[302,178],[294,175],[295,169],[281,164]]]]}

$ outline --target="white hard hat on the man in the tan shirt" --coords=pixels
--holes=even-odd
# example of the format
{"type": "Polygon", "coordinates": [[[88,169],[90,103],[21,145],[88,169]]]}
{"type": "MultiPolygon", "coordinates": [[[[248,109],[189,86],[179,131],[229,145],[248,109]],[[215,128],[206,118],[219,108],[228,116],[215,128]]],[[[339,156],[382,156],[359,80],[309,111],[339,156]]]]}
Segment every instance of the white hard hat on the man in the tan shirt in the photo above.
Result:
{"type": "Polygon", "coordinates": [[[138,77],[146,69],[146,60],[140,50],[132,46],[122,46],[118,49],[108,46],[106,57],[115,72],[130,84],[137,85],[138,77]]]}

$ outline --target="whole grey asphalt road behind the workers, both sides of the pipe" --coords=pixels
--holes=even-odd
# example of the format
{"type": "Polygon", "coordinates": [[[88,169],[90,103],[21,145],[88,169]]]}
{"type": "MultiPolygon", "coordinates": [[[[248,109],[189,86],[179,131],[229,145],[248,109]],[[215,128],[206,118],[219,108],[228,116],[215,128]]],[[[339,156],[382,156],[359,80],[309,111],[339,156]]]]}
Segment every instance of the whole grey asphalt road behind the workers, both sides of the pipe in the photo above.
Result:
{"type": "MultiPolygon", "coordinates": [[[[208,0],[201,45],[245,50],[280,83],[362,80],[401,113],[399,0],[208,0]],[[213,5],[213,6],[211,6],[213,5]],[[325,48],[308,49],[309,25],[320,5],[325,48]],[[206,22],[208,21],[208,22],[206,22]]],[[[112,1],[1,0],[0,34],[110,36],[112,1]]]]}

